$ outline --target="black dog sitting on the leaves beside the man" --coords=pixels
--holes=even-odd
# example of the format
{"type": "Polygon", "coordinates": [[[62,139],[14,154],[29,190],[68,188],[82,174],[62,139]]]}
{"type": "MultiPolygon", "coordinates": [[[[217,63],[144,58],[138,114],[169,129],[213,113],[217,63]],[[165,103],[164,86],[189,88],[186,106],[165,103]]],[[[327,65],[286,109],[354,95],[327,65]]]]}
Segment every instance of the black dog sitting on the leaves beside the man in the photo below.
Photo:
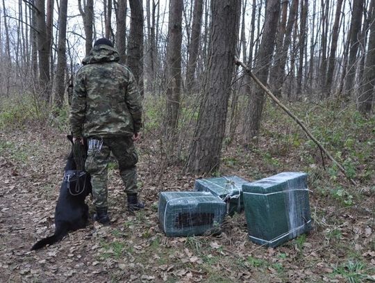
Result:
{"type": "MultiPolygon", "coordinates": [[[[72,143],[72,136],[67,137],[72,143]]],[[[69,231],[84,228],[88,223],[88,205],[85,198],[92,191],[90,175],[76,170],[73,150],[67,158],[65,175],[60,188],[60,195],[55,211],[55,234],[43,238],[33,245],[31,250],[38,250],[45,245],[60,241],[69,231]]]]}

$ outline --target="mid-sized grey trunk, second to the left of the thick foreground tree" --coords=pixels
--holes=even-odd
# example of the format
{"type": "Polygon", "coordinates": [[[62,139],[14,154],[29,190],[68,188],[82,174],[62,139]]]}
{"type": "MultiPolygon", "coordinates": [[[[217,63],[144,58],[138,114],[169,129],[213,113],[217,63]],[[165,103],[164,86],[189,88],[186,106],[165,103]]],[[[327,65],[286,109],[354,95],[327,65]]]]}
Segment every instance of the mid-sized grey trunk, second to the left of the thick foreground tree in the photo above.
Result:
{"type": "Polygon", "coordinates": [[[168,44],[166,59],[167,100],[165,125],[167,135],[174,134],[178,124],[181,92],[181,42],[183,0],[169,2],[168,44]]]}

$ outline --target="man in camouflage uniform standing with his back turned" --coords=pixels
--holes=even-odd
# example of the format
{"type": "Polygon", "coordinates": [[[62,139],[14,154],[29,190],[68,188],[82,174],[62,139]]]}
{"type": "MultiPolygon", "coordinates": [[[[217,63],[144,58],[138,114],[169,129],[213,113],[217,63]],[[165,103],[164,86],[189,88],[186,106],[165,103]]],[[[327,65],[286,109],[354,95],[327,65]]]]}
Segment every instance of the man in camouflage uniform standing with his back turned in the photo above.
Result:
{"type": "Polygon", "coordinates": [[[108,224],[107,169],[110,152],[119,163],[130,211],[143,209],[138,201],[138,156],[133,141],[139,140],[142,124],[140,92],[133,73],[117,63],[112,42],[101,38],[83,59],[74,83],[70,124],[75,140],[88,138],[85,170],[90,173],[97,213],[94,219],[108,224]]]}

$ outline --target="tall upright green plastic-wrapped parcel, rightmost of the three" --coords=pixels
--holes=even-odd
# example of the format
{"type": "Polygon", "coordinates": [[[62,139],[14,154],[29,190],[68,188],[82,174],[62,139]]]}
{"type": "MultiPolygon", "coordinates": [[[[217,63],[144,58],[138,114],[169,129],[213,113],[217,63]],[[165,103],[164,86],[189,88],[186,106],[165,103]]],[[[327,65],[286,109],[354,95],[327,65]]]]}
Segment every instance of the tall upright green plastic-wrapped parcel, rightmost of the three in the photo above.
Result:
{"type": "Polygon", "coordinates": [[[311,229],[306,179],[283,172],[242,186],[251,241],[276,247],[311,229]]]}

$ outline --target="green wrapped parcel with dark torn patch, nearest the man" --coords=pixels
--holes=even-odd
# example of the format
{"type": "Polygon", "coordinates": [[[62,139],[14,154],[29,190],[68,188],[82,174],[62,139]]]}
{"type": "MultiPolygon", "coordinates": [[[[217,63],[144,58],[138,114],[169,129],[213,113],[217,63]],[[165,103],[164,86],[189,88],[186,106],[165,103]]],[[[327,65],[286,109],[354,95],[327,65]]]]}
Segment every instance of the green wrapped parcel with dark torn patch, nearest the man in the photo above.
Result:
{"type": "Polygon", "coordinates": [[[193,236],[218,232],[226,204],[206,192],[163,192],[158,211],[167,236],[193,236]]]}

